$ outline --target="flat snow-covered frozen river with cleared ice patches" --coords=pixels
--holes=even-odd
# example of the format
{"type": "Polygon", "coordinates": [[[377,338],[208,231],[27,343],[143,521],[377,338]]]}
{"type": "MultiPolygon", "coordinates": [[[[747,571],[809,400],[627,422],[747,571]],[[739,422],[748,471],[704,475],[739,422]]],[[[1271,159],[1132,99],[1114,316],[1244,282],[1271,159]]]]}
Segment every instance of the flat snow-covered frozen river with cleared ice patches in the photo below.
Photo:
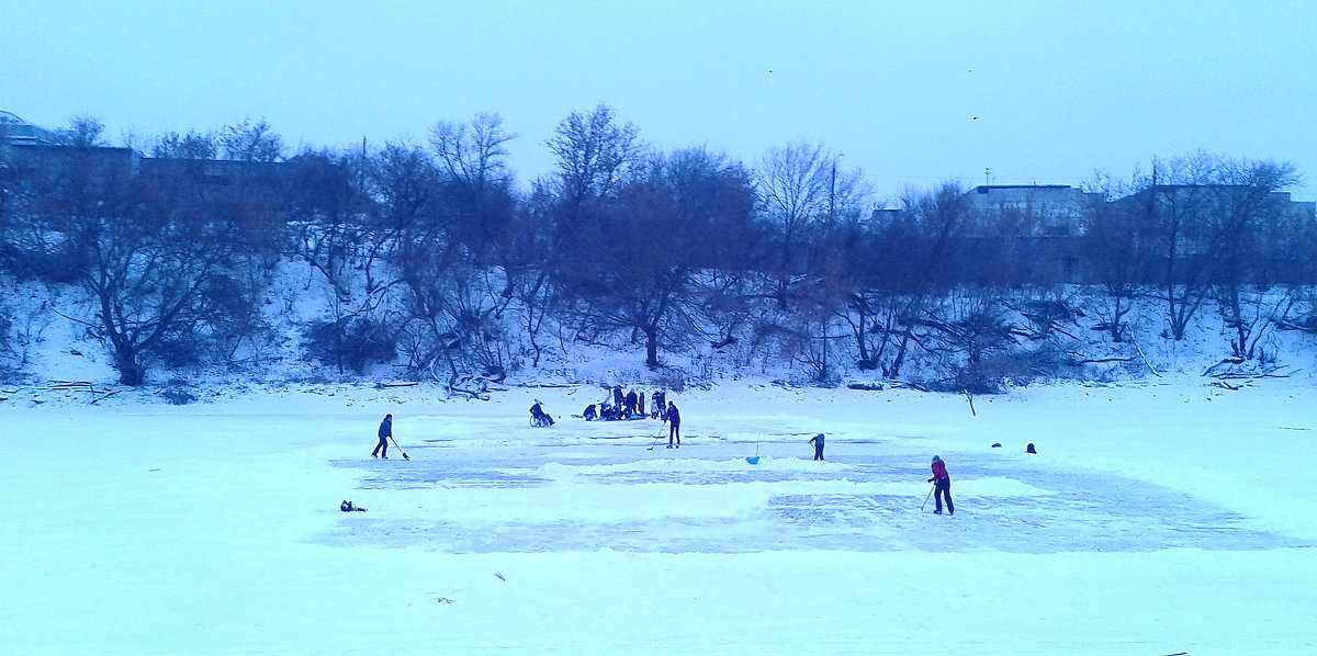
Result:
{"type": "Polygon", "coordinates": [[[1034,387],[977,416],[730,383],[670,396],[670,451],[656,420],[569,416],[602,396],[12,398],[0,651],[1317,652],[1310,382],[1034,387]],[[385,412],[411,460],[370,457],[385,412]],[[934,454],[955,516],[921,507],[934,454]]]}

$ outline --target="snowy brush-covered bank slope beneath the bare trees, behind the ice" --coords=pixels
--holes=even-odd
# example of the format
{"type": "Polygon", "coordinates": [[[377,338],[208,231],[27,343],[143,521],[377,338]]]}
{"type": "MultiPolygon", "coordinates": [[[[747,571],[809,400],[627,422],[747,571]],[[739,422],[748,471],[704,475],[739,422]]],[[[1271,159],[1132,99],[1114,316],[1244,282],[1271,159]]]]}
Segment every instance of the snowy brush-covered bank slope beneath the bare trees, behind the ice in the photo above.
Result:
{"type": "MultiPolygon", "coordinates": [[[[232,387],[298,385],[377,385],[398,381],[439,386],[449,395],[483,396],[485,391],[518,385],[647,385],[681,390],[709,387],[726,381],[759,379],[788,385],[917,389],[960,391],[1005,390],[1050,381],[1156,381],[1163,375],[1235,377],[1297,375],[1308,379],[1317,357],[1317,335],[1305,325],[1314,315],[1310,288],[1275,288],[1252,298],[1246,307],[1250,358],[1233,358],[1235,324],[1214,303],[1204,303],[1183,340],[1167,336],[1166,303],[1158,290],[1123,300],[1122,339],[1109,327],[1112,298],[1100,287],[960,290],[926,311],[914,324],[905,366],[884,377],[880,368],[864,368],[857,333],[842,311],[828,323],[814,320],[805,335],[794,325],[807,314],[781,312],[764,302],[763,312],[736,317],[732,325],[709,325],[707,335],[726,335],[718,344],[698,335],[660,350],[662,366],[644,365],[641,342],[626,331],[585,335],[565,317],[548,317],[532,340],[524,304],[514,300],[493,314],[486,327],[485,352],[499,364],[485,375],[475,362],[458,361],[420,371],[407,366],[404,345],[396,354],[367,364],[363,373],[341,370],[312,357],[309,331],[317,323],[345,314],[377,310],[386,325],[400,321],[386,308],[402,300],[389,296],[344,295],[324,275],[304,263],[283,263],[266,287],[259,331],[237,340],[224,353],[192,364],[150,362],[144,390],[117,385],[117,374],[104,342],[96,335],[95,306],[70,285],[7,283],[13,291],[0,303],[5,317],[0,374],[12,399],[49,402],[54,398],[165,395],[171,402],[207,399],[232,387]],[[986,321],[986,323],[985,323],[986,321]],[[532,348],[533,346],[533,348],[532,348]],[[70,394],[65,382],[80,382],[70,394]]],[[[350,290],[366,288],[350,285],[350,290]]],[[[869,319],[876,321],[876,319],[869,319]]],[[[869,325],[869,324],[865,324],[869,325]]],[[[876,325],[876,324],[873,324],[876,325]]],[[[893,333],[896,335],[896,333],[893,333]]],[[[873,328],[864,335],[868,358],[886,366],[896,341],[876,341],[873,328]],[[884,357],[888,358],[884,364],[884,357]]],[[[406,339],[406,337],[403,337],[406,339]]],[[[111,402],[107,399],[107,402],[111,402]]]]}

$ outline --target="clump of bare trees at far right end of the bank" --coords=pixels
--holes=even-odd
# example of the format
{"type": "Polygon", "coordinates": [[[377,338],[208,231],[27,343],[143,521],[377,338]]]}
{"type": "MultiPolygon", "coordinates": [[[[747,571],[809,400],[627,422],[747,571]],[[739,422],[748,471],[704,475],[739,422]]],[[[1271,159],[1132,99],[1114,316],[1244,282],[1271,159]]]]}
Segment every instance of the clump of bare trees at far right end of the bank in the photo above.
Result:
{"type": "Polygon", "coordinates": [[[1125,184],[1101,184],[1085,240],[1108,292],[1112,339],[1125,339],[1123,317],[1146,294],[1163,306],[1166,337],[1184,340],[1216,304],[1233,354],[1255,357],[1268,324],[1317,274],[1312,211],[1284,194],[1297,182],[1288,163],[1197,153],[1155,161],[1125,184]]]}

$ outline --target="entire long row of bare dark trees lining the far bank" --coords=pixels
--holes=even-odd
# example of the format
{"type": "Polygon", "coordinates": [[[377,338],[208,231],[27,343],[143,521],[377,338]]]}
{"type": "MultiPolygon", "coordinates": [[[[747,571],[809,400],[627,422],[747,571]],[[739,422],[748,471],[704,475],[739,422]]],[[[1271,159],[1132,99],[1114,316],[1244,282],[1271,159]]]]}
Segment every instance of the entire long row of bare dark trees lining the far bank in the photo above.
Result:
{"type": "MultiPolygon", "coordinates": [[[[523,191],[497,115],[439,123],[423,144],[291,157],[263,121],[165,134],[151,157],[103,148],[95,121],[74,128],[67,146],[0,150],[0,263],[80,287],[86,306],[55,310],[126,385],[153,365],[261,368],[288,352],[275,324],[306,317],[274,302],[287,263],[315,300],[296,350],[450,385],[570,342],[633,345],[651,368],[741,342],[818,381],[935,361],[972,373],[1067,311],[1018,291],[1064,281],[1022,273],[1018,227],[985,228],[960,186],[873,212],[861,173],[807,142],[755,167],[657,151],[599,105],[558,125],[554,173],[523,191]]],[[[1216,303],[1231,350],[1254,357],[1276,314],[1305,302],[1275,283],[1313,279],[1312,217],[1279,194],[1296,180],[1284,163],[1200,154],[1094,183],[1067,248],[1105,290],[1098,328],[1122,342],[1130,308],[1154,295],[1180,340],[1216,303]]]]}

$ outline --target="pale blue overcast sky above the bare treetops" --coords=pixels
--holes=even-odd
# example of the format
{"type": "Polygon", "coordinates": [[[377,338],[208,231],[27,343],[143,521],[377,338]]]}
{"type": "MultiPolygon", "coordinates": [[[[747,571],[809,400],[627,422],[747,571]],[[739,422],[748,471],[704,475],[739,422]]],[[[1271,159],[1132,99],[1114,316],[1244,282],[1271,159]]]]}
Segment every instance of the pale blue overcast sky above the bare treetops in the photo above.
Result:
{"type": "Polygon", "coordinates": [[[1317,1],[11,1],[0,109],[153,136],[266,117],[291,145],[424,140],[493,111],[519,178],[605,101],[748,165],[803,137],[880,196],[1080,184],[1205,149],[1317,199],[1317,1]]]}

